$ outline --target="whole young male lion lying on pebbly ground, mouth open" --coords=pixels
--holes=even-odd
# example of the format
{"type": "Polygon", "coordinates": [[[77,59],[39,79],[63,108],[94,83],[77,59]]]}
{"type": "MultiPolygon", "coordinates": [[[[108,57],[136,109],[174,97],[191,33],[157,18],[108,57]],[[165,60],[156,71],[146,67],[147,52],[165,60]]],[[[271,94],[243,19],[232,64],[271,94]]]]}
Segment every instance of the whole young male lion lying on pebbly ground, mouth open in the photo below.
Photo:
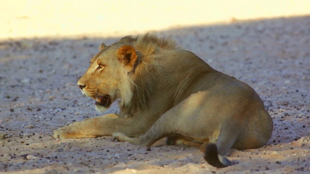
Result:
{"type": "Polygon", "coordinates": [[[104,112],[120,99],[120,114],[75,122],[54,138],[113,136],[120,142],[150,146],[200,147],[204,159],[221,168],[231,149],[259,148],[271,137],[273,121],[247,84],[220,73],[171,39],[153,34],[126,36],[100,46],[78,80],[84,96],[104,112]]]}

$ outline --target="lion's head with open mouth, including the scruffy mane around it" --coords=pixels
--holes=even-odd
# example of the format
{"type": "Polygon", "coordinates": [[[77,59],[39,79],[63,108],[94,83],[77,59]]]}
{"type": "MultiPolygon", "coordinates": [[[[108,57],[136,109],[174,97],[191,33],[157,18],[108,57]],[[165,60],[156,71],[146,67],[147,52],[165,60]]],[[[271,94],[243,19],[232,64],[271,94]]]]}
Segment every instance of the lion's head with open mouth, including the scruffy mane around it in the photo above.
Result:
{"type": "Polygon", "coordinates": [[[163,76],[156,53],[160,49],[175,49],[176,43],[146,34],[126,36],[119,42],[99,47],[87,72],[78,80],[83,95],[93,98],[96,109],[103,112],[120,98],[120,109],[131,115],[147,107],[156,79],[163,76]]]}

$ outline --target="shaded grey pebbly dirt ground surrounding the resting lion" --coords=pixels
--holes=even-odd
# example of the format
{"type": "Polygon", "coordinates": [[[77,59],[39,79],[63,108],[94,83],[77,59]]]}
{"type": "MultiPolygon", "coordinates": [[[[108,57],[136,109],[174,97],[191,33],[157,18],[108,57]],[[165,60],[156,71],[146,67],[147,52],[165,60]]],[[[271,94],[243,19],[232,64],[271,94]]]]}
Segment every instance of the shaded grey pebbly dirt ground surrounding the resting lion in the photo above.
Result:
{"type": "MultiPolygon", "coordinates": [[[[197,148],[151,148],[111,137],[55,141],[69,123],[100,116],[76,85],[102,42],[76,36],[0,42],[0,172],[6,174],[310,173],[310,16],[231,21],[157,31],[213,68],[253,87],[274,120],[267,145],[231,150],[232,166],[208,165],[197,148]]],[[[119,112],[117,104],[106,113],[119,112]]],[[[210,123],[212,124],[212,123],[210,123]]]]}

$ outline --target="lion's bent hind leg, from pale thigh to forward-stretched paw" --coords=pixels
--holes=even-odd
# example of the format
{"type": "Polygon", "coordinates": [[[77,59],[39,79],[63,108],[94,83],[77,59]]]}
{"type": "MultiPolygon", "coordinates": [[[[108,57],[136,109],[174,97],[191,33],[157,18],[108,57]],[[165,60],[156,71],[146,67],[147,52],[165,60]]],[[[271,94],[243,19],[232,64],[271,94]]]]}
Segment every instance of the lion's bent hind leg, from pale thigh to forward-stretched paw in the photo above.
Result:
{"type": "MultiPolygon", "coordinates": [[[[180,135],[182,137],[194,139],[193,136],[195,136],[195,131],[190,130],[195,130],[197,127],[205,127],[204,123],[197,121],[197,119],[193,119],[193,116],[199,119],[202,117],[201,120],[203,122],[205,121],[203,118],[204,116],[202,116],[203,111],[197,110],[196,108],[204,103],[203,100],[206,98],[205,95],[207,95],[207,92],[198,93],[192,94],[186,98],[186,100],[164,113],[144,135],[129,138],[122,133],[113,133],[112,136],[121,142],[128,142],[141,146],[153,145],[157,140],[171,135],[180,135]]],[[[179,141],[190,144],[190,146],[196,146],[190,141],[181,139],[179,139],[179,141]]]]}

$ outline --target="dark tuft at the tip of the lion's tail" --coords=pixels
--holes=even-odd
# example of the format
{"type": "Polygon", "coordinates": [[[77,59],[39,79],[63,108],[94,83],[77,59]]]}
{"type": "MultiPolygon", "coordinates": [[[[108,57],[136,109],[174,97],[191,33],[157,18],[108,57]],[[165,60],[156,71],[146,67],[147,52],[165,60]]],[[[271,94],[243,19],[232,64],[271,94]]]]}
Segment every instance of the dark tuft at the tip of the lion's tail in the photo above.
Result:
{"type": "Polygon", "coordinates": [[[210,165],[217,167],[217,168],[227,167],[227,165],[224,165],[218,159],[217,145],[213,143],[210,143],[205,147],[204,160],[206,160],[210,165]]]}

